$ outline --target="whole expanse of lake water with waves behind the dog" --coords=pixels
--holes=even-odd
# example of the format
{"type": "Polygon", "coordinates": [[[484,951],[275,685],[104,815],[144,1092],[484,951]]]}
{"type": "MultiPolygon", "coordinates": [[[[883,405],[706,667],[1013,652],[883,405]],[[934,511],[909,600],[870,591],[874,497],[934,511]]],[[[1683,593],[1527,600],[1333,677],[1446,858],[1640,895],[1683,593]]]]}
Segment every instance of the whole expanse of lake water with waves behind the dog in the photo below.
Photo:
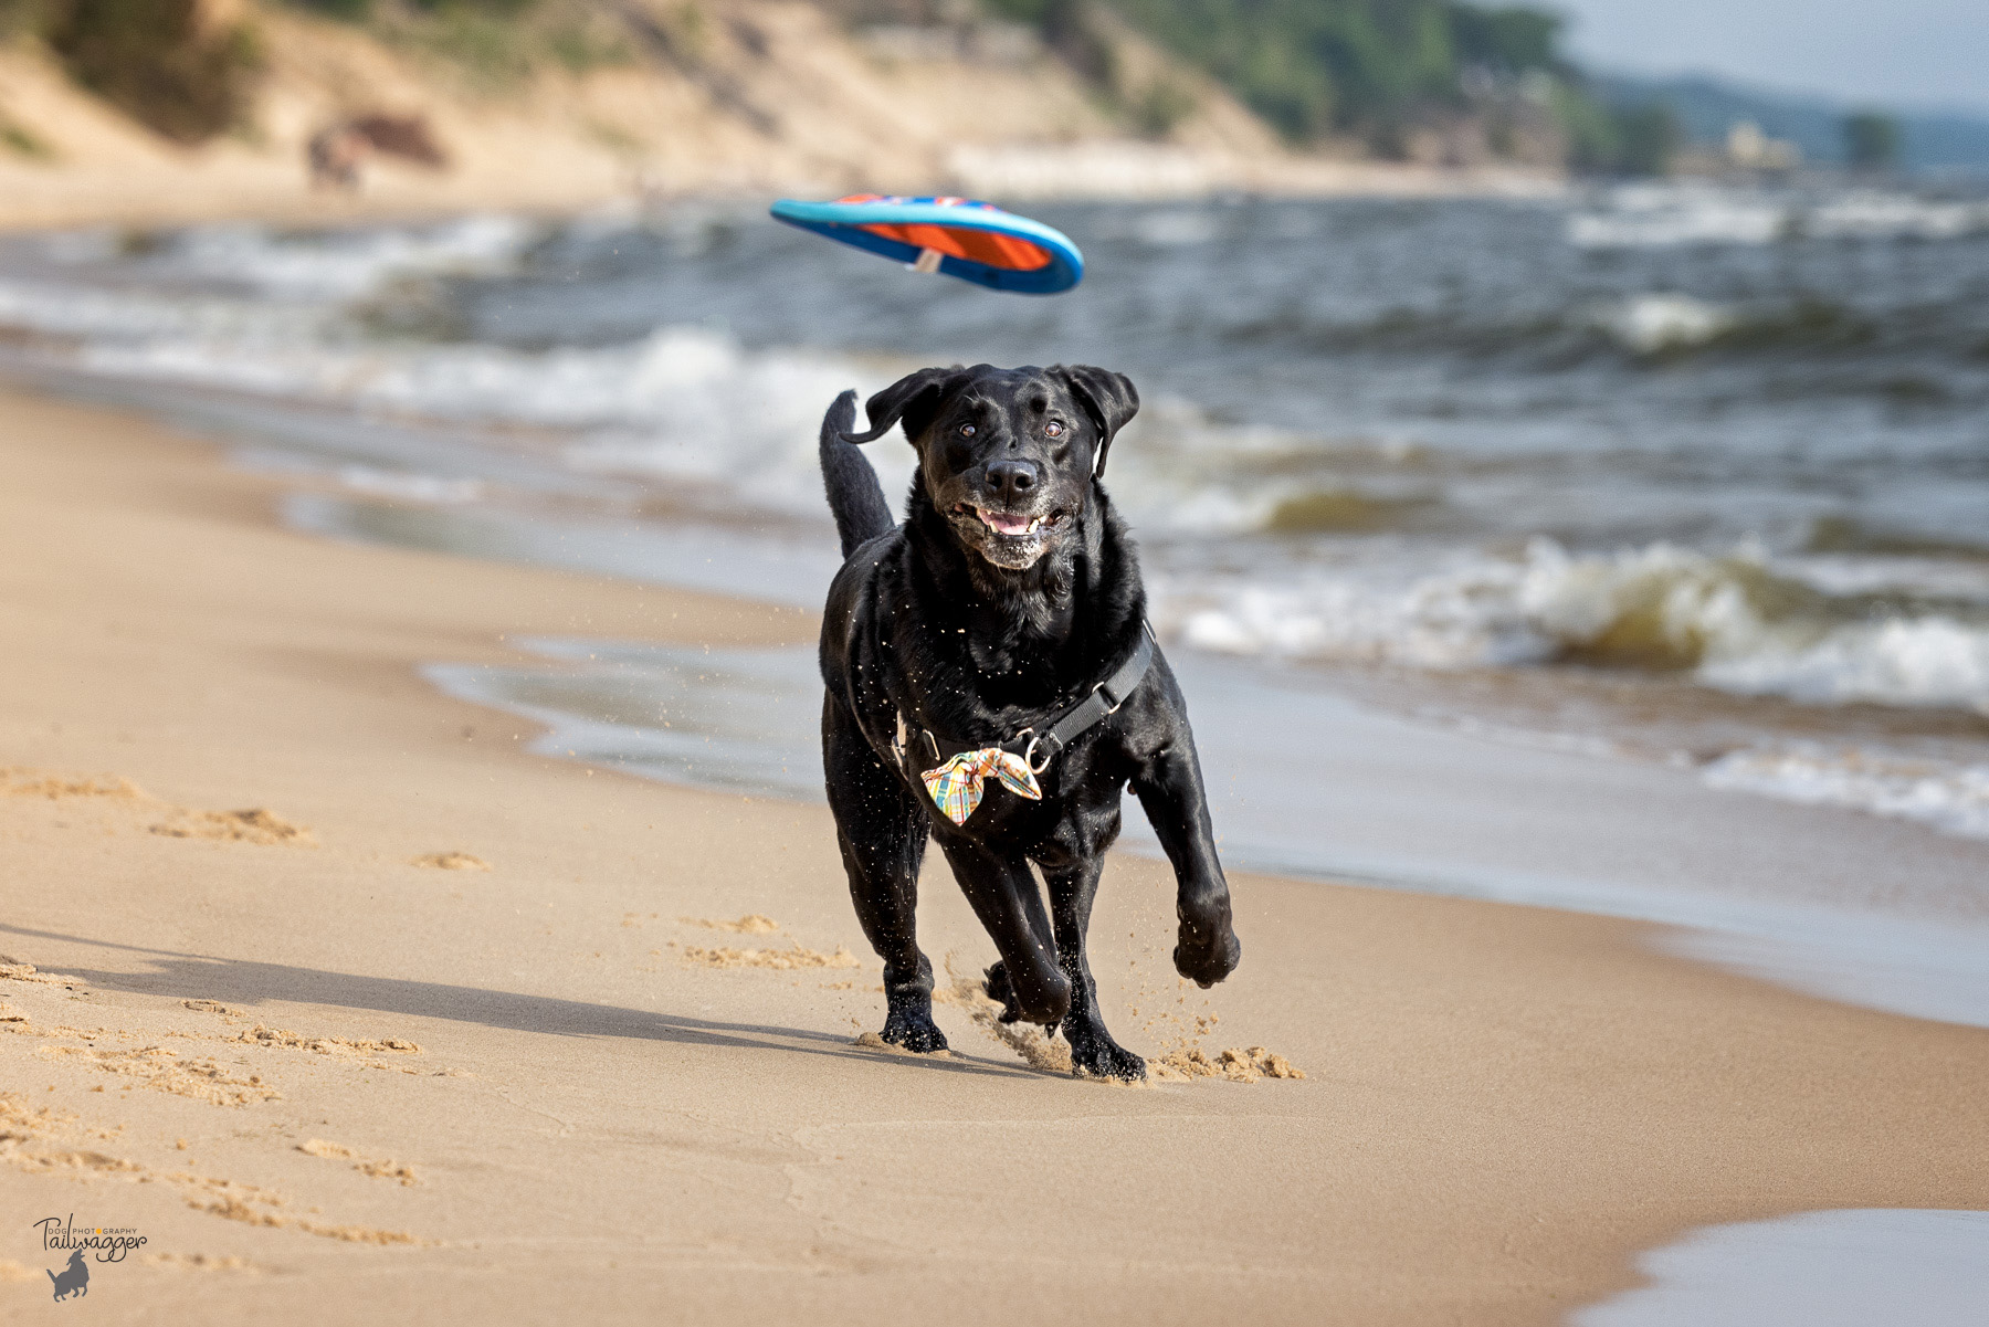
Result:
{"type": "MultiPolygon", "coordinates": [[[[235,440],[298,529],[794,607],[835,567],[837,392],[1124,370],[1110,487],[1231,861],[1647,917],[1989,1023],[1989,203],[1038,215],[1086,251],[1066,296],[758,205],[18,237],[0,350],[235,440]]],[[[867,454],[901,491],[909,448],[867,454]]],[[[819,796],[806,653],[535,649],[434,676],[557,754],[819,796]]]]}

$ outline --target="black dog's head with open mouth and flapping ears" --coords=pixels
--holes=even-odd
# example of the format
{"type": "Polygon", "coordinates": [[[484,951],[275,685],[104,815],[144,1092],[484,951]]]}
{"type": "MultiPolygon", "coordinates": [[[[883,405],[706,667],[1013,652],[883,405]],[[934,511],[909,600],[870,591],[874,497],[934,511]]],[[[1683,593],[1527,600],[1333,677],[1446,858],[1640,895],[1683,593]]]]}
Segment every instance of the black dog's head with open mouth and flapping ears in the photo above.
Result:
{"type": "Polygon", "coordinates": [[[1088,364],[921,368],[865,404],[919,450],[919,475],[953,537],[994,567],[1024,571],[1068,539],[1104,474],[1114,434],[1140,410],[1124,374],[1088,364]]]}

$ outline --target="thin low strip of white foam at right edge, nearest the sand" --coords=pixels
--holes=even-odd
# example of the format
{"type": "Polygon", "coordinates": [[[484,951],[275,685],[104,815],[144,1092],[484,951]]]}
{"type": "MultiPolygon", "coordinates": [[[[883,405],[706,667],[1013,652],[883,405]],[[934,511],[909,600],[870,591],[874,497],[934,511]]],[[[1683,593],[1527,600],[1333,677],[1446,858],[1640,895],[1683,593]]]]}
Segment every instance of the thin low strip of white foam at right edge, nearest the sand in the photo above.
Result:
{"type": "Polygon", "coordinates": [[[1989,766],[1874,756],[1814,744],[1736,750],[1711,762],[1713,788],[1756,792],[1784,802],[1842,806],[1917,820],[1969,838],[1989,838],[1989,766]]]}

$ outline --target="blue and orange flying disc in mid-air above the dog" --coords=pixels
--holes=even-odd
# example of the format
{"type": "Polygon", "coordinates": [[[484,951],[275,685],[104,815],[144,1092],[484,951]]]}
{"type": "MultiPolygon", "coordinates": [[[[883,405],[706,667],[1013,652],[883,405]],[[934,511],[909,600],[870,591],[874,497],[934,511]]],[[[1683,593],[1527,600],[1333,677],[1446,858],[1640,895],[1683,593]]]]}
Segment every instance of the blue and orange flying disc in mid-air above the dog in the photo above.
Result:
{"type": "Polygon", "coordinates": [[[901,199],[853,193],[833,203],[774,203],[774,219],[827,235],[919,273],[1056,294],[1084,279],[1084,255],[1062,231],[975,199],[901,199]]]}

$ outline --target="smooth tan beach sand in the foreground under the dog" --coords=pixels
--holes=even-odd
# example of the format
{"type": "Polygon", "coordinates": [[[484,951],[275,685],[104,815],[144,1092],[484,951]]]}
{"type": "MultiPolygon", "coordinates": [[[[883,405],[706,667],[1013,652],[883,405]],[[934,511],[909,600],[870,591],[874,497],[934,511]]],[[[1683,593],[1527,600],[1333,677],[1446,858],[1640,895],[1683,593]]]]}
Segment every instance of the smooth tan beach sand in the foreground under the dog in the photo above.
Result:
{"type": "MultiPolygon", "coordinates": [[[[1181,991],[1120,857],[1112,1025],[1253,1074],[1044,1072],[971,989],[949,1056],[855,1044],[823,810],[525,754],[414,670],[812,619],[314,541],[34,398],[0,474],[6,1321],[1545,1323],[1693,1226],[1989,1208],[1989,1033],[1583,915],[1239,875],[1245,965],[1181,991]],[[88,1309],[30,1226],[68,1214],[147,1239],[88,1309]]],[[[951,881],[923,913],[993,957],[951,881]]]]}

